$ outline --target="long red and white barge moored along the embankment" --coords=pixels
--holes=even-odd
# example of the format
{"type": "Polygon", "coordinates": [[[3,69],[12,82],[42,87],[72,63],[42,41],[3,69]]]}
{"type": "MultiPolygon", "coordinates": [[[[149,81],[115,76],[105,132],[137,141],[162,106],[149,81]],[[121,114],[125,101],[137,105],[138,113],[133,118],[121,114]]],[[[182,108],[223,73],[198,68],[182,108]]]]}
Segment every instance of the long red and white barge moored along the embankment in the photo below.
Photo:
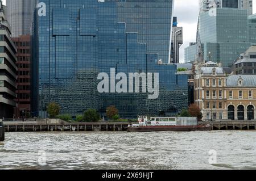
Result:
{"type": "Polygon", "coordinates": [[[129,125],[128,132],[160,132],[160,131],[211,131],[210,125],[198,124],[197,117],[138,117],[139,124],[129,125]]]}

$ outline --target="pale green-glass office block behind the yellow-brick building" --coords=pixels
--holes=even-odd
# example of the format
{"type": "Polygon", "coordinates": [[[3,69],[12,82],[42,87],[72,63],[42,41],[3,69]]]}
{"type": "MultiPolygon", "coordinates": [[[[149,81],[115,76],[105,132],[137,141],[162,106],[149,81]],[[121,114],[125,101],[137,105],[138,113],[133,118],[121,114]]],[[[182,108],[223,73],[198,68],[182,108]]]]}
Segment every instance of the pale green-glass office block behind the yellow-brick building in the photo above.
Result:
{"type": "MultiPolygon", "coordinates": [[[[214,14],[203,12],[199,16],[204,60],[221,62],[223,66],[231,67],[241,53],[255,44],[254,19],[251,18],[249,23],[246,10],[217,8],[214,11],[214,14]]],[[[189,50],[186,49],[185,54],[189,54],[189,50]]]]}

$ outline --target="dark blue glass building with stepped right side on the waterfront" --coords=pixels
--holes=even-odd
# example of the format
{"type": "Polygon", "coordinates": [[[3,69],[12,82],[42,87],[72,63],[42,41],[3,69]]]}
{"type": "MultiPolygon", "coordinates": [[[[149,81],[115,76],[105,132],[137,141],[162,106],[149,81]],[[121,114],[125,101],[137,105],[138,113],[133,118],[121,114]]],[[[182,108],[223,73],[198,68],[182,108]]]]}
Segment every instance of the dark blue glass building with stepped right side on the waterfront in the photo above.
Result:
{"type": "MultiPolygon", "coordinates": [[[[170,115],[188,106],[187,75],[176,75],[175,65],[157,64],[158,52],[148,52],[139,34],[129,31],[128,23],[119,22],[117,2],[38,2],[46,4],[46,16],[35,12],[34,27],[34,69],[38,70],[34,71],[38,92],[34,111],[39,116],[45,115],[49,102],[57,102],[62,113],[73,116],[88,108],[104,114],[111,105],[122,117],[158,115],[160,111],[170,115]],[[145,93],[100,94],[97,76],[102,72],[110,75],[111,68],[127,75],[159,72],[159,98],[148,99],[145,93]]],[[[169,15],[171,19],[171,9],[169,15]]]]}

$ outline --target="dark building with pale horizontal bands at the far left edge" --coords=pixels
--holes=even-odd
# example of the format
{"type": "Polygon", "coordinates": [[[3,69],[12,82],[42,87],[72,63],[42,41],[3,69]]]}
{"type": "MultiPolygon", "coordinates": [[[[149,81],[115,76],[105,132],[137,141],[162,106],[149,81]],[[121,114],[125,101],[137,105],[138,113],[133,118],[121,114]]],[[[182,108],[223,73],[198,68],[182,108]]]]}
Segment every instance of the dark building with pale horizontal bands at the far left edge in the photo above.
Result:
{"type": "Polygon", "coordinates": [[[6,6],[0,3],[0,117],[12,118],[16,103],[16,48],[6,20],[6,6]]]}

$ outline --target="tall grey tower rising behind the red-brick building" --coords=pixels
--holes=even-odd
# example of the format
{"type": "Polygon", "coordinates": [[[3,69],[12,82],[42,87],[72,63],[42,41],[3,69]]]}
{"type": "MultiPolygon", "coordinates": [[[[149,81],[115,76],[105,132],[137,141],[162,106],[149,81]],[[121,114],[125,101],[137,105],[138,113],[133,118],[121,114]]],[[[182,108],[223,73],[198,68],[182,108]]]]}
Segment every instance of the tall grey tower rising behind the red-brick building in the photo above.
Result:
{"type": "Polygon", "coordinates": [[[6,5],[11,37],[31,35],[36,0],[7,0],[6,5]]]}

